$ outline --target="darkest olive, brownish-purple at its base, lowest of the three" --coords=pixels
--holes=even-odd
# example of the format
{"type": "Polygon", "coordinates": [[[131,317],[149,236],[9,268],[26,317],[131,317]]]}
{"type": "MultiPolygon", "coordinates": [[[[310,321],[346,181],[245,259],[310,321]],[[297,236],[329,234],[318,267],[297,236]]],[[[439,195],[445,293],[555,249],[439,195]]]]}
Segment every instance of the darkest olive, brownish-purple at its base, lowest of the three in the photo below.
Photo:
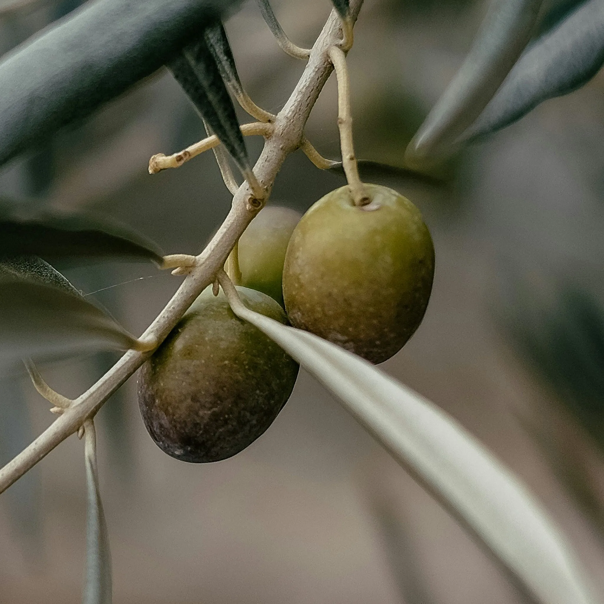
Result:
{"type": "MultiPolygon", "coordinates": [[[[283,309],[237,288],[256,312],[283,324],[283,309]]],[[[271,425],[292,393],[298,364],[237,318],[225,295],[208,288],[140,371],[138,403],[155,443],[179,460],[231,457],[271,425]]]]}

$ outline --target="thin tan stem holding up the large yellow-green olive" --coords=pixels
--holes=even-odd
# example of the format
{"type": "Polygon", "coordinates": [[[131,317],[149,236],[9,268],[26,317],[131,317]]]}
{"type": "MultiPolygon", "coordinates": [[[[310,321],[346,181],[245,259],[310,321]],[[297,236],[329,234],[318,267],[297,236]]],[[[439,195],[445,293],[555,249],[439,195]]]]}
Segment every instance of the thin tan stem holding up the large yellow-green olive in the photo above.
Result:
{"type": "Polygon", "coordinates": [[[329,49],[329,58],[338,78],[338,127],[340,133],[340,147],[342,149],[342,167],[348,181],[355,205],[365,205],[368,201],[367,194],[359,178],[359,169],[356,164],[355,147],[352,141],[352,115],[350,115],[350,78],[346,66],[346,55],[341,48],[332,46],[329,49]]]}

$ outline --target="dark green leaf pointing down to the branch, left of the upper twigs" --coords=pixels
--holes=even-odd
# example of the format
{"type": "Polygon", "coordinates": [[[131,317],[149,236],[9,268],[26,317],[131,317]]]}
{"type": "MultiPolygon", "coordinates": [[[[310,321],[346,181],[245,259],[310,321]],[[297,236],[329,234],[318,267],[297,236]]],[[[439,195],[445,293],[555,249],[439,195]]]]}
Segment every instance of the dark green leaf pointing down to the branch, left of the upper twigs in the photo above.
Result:
{"type": "Polygon", "coordinates": [[[241,170],[249,169],[239,121],[205,37],[184,48],[170,65],[174,77],[241,170]]]}

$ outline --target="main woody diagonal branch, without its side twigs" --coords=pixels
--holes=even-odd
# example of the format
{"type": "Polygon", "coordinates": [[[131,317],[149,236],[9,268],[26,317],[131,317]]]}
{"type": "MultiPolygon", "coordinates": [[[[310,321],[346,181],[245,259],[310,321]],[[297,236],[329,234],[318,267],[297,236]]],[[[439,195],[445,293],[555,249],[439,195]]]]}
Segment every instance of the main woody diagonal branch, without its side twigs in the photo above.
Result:
{"type": "MultiPolygon", "coordinates": [[[[358,15],[362,4],[363,0],[351,0],[350,12],[353,18],[358,15]]],[[[338,16],[332,11],[315,42],[300,80],[283,109],[275,116],[274,126],[262,124],[263,127],[271,127],[274,130],[270,135],[265,135],[265,145],[254,169],[259,181],[268,191],[286,157],[300,147],[310,111],[332,71],[327,50],[338,43],[341,35],[339,25],[338,16]]],[[[217,144],[219,143],[215,140],[213,145],[217,144]]],[[[222,269],[235,242],[259,210],[258,204],[251,203],[252,195],[251,187],[244,182],[233,198],[233,205],[225,221],[204,251],[196,257],[195,266],[190,274],[182,281],[178,291],[150,324],[141,339],[146,342],[156,342],[156,345],[162,342],[195,298],[216,280],[216,274],[222,269]]],[[[103,403],[150,355],[151,352],[128,350],[107,373],[77,397],[74,403],[37,439],[0,469],[0,493],[46,457],[63,440],[75,434],[83,422],[94,416],[103,403]]]]}

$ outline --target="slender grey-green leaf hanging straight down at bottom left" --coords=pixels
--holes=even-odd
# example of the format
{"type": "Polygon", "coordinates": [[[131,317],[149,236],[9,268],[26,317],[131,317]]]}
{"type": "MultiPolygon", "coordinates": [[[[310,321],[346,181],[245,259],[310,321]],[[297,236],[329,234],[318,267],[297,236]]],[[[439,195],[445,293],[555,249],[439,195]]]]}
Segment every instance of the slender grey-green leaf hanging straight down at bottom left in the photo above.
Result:
{"type": "Polygon", "coordinates": [[[111,604],[111,554],[107,523],[98,485],[97,440],[92,422],[86,422],[86,579],[83,604],[111,604]]]}

